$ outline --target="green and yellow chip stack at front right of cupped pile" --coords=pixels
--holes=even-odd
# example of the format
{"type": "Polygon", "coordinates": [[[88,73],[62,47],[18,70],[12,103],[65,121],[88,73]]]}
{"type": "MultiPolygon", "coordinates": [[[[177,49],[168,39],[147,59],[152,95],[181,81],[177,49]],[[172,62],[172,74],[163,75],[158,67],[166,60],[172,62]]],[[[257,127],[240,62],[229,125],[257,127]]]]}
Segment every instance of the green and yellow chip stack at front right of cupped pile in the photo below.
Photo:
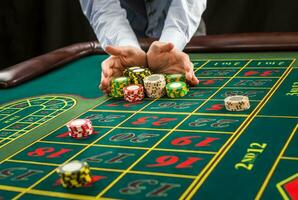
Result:
{"type": "Polygon", "coordinates": [[[188,93],[188,87],[185,82],[172,82],[166,85],[166,91],[168,97],[179,98],[185,96],[188,93]]]}

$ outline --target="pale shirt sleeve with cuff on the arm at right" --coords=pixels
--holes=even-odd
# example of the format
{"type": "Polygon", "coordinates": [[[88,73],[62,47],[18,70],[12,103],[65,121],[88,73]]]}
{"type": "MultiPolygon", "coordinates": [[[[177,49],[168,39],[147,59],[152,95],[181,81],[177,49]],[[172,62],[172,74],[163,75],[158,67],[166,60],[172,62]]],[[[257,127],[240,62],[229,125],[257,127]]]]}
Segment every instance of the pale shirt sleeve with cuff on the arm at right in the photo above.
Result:
{"type": "Polygon", "coordinates": [[[171,42],[181,51],[199,27],[207,0],[173,0],[159,41],[171,42]]]}

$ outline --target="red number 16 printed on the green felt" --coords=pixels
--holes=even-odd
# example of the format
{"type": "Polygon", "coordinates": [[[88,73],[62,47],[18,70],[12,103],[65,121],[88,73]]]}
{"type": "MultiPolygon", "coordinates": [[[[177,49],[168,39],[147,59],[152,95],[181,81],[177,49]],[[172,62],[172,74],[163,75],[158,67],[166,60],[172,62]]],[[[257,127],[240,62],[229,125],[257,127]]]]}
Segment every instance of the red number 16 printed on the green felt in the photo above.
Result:
{"type": "Polygon", "coordinates": [[[156,158],[156,163],[146,165],[146,167],[164,167],[174,165],[177,169],[191,168],[192,164],[198,162],[199,160],[202,160],[202,158],[188,157],[186,160],[179,161],[178,156],[160,156],[156,158]]]}

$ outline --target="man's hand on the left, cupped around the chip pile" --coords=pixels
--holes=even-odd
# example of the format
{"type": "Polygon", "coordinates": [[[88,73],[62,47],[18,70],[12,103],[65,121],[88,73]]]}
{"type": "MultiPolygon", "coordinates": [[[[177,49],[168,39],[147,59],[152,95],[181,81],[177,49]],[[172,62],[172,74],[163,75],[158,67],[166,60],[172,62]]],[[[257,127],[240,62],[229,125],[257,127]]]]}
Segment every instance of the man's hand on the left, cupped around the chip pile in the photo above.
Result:
{"type": "Polygon", "coordinates": [[[112,78],[122,76],[126,67],[147,66],[146,53],[139,48],[107,46],[105,51],[110,54],[110,57],[101,64],[102,73],[99,87],[107,94],[110,92],[112,78]]]}

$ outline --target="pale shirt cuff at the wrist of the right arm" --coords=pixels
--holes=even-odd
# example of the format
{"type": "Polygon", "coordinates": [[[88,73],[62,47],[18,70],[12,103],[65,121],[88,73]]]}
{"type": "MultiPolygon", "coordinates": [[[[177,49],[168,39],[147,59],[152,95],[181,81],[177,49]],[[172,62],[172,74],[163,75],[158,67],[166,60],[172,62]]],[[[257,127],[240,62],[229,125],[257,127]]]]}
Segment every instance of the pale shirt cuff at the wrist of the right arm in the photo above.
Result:
{"type": "Polygon", "coordinates": [[[188,42],[186,36],[179,32],[177,29],[168,28],[162,31],[162,34],[159,38],[160,42],[171,42],[174,44],[176,49],[182,51],[188,42]]]}

